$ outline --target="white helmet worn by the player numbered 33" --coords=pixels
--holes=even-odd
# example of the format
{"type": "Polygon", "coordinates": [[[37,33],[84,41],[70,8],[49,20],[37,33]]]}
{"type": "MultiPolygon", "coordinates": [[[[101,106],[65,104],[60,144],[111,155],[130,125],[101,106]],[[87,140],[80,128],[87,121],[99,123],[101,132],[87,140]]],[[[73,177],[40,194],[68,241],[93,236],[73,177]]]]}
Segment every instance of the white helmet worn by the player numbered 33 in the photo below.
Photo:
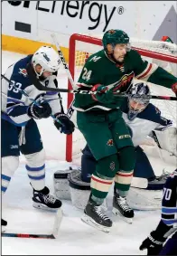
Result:
{"type": "Polygon", "coordinates": [[[42,46],[34,52],[32,62],[34,67],[37,64],[42,66],[42,71],[40,73],[37,73],[34,69],[37,76],[41,76],[44,71],[58,71],[61,64],[59,53],[51,48],[51,46],[42,46]]]}

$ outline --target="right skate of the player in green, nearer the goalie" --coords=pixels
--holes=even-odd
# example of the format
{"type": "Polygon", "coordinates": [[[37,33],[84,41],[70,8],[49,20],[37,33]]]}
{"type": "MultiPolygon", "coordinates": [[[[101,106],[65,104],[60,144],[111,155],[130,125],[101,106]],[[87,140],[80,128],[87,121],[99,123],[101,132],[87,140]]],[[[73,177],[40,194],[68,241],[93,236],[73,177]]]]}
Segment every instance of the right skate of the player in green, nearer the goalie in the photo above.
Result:
{"type": "Polygon", "coordinates": [[[113,210],[112,212],[119,215],[126,223],[132,223],[134,218],[134,211],[129,207],[126,202],[126,197],[114,193],[113,197],[113,210]]]}

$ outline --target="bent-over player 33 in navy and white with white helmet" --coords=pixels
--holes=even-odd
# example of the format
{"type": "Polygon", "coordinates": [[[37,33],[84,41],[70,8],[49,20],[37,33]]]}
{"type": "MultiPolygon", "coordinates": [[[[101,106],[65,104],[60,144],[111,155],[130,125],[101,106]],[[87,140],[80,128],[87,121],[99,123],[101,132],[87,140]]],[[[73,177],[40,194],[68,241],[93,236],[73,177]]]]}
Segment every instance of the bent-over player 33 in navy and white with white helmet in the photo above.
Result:
{"type": "Polygon", "coordinates": [[[60,64],[58,52],[49,46],[42,46],[5,71],[5,77],[15,87],[5,79],[2,80],[2,193],[7,190],[18,168],[21,152],[25,156],[25,167],[33,187],[33,206],[47,210],[60,208],[61,201],[53,197],[45,186],[45,152],[34,119],[47,119],[52,114],[57,119],[54,120],[55,127],[64,134],[71,134],[74,124],[63,111],[61,95],[58,92],[38,90],[30,71],[33,71],[36,81],[45,87],[56,88],[60,64]],[[24,90],[29,97],[25,97],[18,89],[24,90]],[[36,100],[38,105],[29,98],[36,100]]]}

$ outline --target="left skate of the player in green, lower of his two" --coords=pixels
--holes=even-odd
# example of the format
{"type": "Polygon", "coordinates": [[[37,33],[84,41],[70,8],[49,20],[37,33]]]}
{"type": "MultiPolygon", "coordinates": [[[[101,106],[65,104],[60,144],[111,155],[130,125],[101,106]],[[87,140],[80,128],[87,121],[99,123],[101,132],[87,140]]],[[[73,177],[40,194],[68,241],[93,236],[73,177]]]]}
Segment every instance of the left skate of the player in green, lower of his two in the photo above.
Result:
{"type": "Polygon", "coordinates": [[[103,212],[101,205],[96,204],[91,199],[86,205],[84,215],[81,217],[81,220],[102,232],[109,232],[110,227],[112,227],[112,221],[103,212]]]}

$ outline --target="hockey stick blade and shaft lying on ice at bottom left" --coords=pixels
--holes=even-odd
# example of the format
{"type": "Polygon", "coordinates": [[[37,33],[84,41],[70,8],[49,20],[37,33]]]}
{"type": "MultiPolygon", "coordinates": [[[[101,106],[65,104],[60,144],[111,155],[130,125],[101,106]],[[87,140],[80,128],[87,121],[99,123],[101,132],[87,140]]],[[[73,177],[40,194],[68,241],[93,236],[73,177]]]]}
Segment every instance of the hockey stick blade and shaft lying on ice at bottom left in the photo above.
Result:
{"type": "Polygon", "coordinates": [[[44,239],[56,239],[59,229],[61,227],[62,211],[61,208],[55,215],[55,221],[53,224],[53,232],[51,234],[33,234],[33,233],[18,233],[18,232],[2,232],[2,237],[18,237],[18,238],[44,238],[44,239]]]}

